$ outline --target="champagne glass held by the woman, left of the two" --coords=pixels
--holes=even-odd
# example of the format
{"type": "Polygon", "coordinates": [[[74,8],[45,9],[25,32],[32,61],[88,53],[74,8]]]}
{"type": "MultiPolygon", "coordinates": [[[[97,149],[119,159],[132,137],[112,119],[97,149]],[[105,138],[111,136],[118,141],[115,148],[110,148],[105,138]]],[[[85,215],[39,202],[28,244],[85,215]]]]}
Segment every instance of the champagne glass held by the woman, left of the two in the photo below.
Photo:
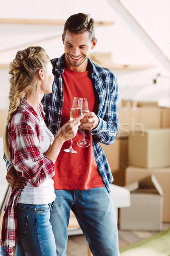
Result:
{"type": "MultiPolygon", "coordinates": [[[[70,119],[74,120],[76,117],[82,115],[82,98],[74,97],[73,104],[70,111],[70,119]]],[[[73,150],[73,138],[71,139],[70,148],[64,149],[65,152],[68,153],[77,153],[77,151],[73,150]]]]}

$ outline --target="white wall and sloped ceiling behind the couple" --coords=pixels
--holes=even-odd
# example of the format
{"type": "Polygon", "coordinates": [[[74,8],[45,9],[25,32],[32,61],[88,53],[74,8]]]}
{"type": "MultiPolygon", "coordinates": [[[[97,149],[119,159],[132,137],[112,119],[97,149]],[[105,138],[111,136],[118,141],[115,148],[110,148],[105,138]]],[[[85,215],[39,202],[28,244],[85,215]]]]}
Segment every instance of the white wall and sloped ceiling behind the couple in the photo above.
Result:
{"type": "MultiPolygon", "coordinates": [[[[65,20],[77,12],[86,12],[95,20],[114,21],[114,25],[96,27],[97,45],[93,51],[113,52],[113,61],[117,64],[157,66],[144,70],[113,70],[119,82],[119,101],[121,102],[123,98],[157,100],[164,96],[169,100],[170,79],[160,77],[161,93],[160,88],[152,86],[152,81],[157,73],[170,77],[170,1],[121,0],[121,2],[127,11],[119,0],[86,0],[85,2],[6,0],[1,3],[0,18],[65,20]],[[137,23],[134,19],[131,20],[129,13],[137,23]]],[[[50,58],[59,57],[63,53],[62,30],[63,26],[57,25],[1,23],[0,63],[12,61],[17,50],[27,47],[28,44],[41,45],[50,58]],[[56,38],[42,41],[54,36],[56,38]],[[13,47],[16,48],[11,49],[13,47]]],[[[8,69],[0,69],[1,109],[8,106],[8,79],[8,69]]]]}

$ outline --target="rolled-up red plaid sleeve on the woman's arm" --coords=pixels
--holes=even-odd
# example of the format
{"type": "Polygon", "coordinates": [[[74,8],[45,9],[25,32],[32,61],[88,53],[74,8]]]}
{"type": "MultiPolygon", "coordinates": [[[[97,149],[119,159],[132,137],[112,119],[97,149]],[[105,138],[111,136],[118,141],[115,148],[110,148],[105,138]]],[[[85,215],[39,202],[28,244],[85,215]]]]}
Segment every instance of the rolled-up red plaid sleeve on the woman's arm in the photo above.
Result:
{"type": "Polygon", "coordinates": [[[13,165],[33,186],[53,177],[54,163],[42,153],[35,126],[17,125],[11,134],[13,165]]]}

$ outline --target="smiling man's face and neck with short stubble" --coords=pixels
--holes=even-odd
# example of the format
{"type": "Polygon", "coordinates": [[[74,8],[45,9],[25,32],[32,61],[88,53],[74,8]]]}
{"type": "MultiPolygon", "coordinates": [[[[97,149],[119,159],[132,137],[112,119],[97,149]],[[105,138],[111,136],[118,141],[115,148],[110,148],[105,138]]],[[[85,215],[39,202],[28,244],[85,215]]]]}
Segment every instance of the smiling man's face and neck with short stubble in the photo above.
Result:
{"type": "Polygon", "coordinates": [[[88,31],[76,35],[67,30],[65,38],[62,35],[62,42],[66,56],[66,67],[80,72],[85,71],[84,69],[88,64],[87,58],[91,49],[96,45],[96,38],[91,42],[88,31]]]}

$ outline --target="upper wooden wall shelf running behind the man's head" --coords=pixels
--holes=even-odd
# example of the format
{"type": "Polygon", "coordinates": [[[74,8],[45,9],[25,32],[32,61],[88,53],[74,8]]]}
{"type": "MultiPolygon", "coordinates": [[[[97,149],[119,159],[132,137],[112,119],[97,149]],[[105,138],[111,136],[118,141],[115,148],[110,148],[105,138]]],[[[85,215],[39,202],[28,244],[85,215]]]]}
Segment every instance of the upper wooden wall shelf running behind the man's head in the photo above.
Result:
{"type": "MultiPolygon", "coordinates": [[[[1,18],[0,23],[64,25],[66,20],[9,19],[1,18]]],[[[113,21],[95,21],[96,26],[113,25],[113,21]]]]}

